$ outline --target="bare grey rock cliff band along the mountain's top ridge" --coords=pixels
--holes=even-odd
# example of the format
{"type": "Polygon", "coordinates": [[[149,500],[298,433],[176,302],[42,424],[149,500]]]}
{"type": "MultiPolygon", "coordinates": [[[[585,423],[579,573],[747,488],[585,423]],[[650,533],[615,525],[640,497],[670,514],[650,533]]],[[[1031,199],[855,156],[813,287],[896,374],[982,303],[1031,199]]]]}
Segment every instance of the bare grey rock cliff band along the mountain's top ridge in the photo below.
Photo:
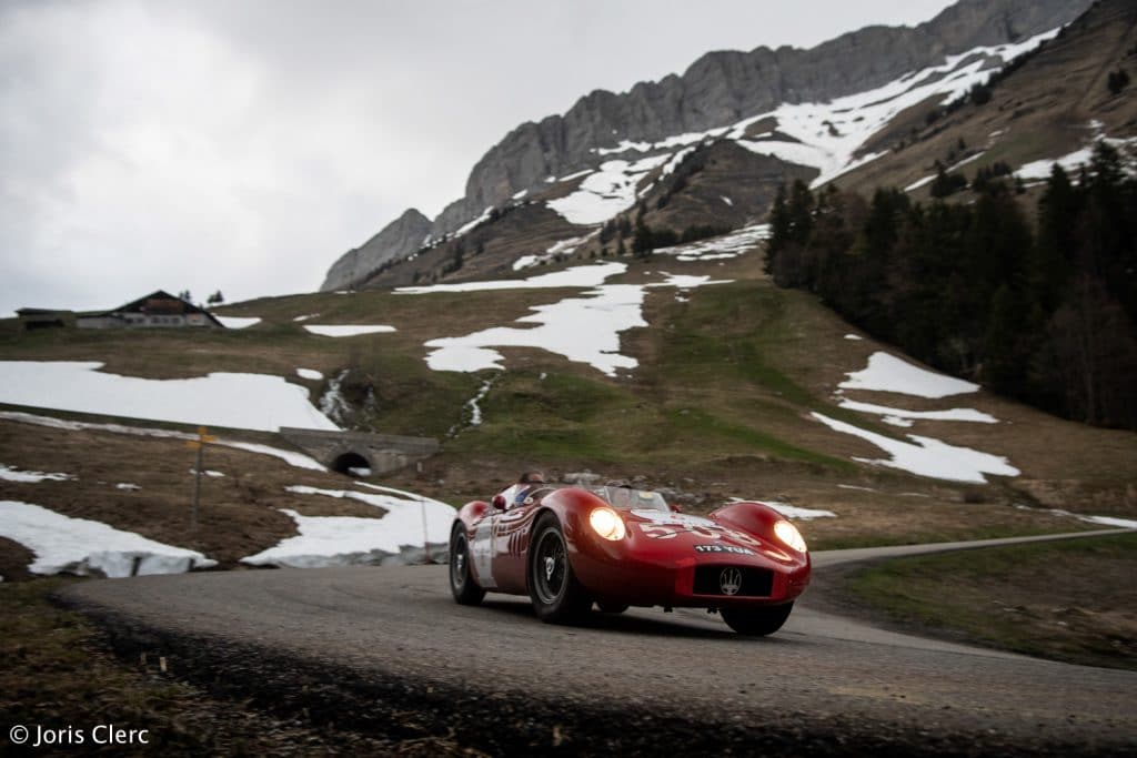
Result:
{"type": "MultiPolygon", "coordinates": [[[[418,241],[435,239],[504,205],[547,176],[599,163],[598,148],[653,141],[733,124],[783,102],[825,101],[880,86],[945,56],[1015,41],[1069,23],[1092,0],[961,0],[916,27],[869,26],[810,50],[761,47],[711,52],[681,76],[639,83],[626,93],[597,90],[562,116],[526,122],[474,166],[465,197],[434,219],[407,211],[363,248],[335,263],[322,289],[357,282],[383,263],[414,250],[404,232],[414,213],[418,241]],[[429,222],[428,222],[429,224],[429,222]]],[[[409,235],[413,238],[414,235],[409,235]]]]}

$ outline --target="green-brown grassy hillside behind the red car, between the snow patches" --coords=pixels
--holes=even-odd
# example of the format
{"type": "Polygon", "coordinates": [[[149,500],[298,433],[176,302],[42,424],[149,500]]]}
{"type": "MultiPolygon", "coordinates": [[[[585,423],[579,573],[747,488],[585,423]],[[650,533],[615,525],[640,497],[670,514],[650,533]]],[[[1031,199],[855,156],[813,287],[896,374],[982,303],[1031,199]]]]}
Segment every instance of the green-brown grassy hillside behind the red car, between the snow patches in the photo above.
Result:
{"type": "MultiPolygon", "coordinates": [[[[426,365],[426,341],[509,325],[534,306],[584,292],[574,288],[269,298],[223,309],[263,319],[240,331],[25,333],[7,322],[0,359],[99,360],[103,370],[153,378],[266,373],[308,388],[314,400],[346,370],[343,393],[354,401],[349,426],[441,440],[441,453],[421,472],[407,469],[385,482],[454,503],[484,498],[516,472],[540,466],[553,476],[587,469],[605,478],[642,477],[644,486],[662,488],[694,511],[731,497],[831,510],[837,518],[807,526],[822,545],[1090,526],[1044,508],[1137,517],[1132,433],[1064,422],[986,392],[887,398],[890,406],[913,410],[966,406],[998,424],[916,420],[897,428],[879,415],[838,407],[836,392],[846,374],[888,347],[846,339],[855,330],[814,295],[774,286],[762,273],[761,248],[724,261],[679,263],[656,255],[625,263],[628,272],[607,284],[658,281],[664,270],[730,283],[692,289],[682,299],[671,288],[646,289],[648,326],[621,335],[621,352],[639,366],[614,377],[537,348],[500,349],[505,372],[464,374],[426,365]],[[296,320],[305,316],[310,318],[296,320]],[[397,331],[333,339],[302,328],[337,323],[389,324],[397,331]],[[302,380],[298,367],[318,369],[325,378],[302,380]],[[468,401],[485,382],[491,384],[479,402],[482,420],[473,425],[468,401]],[[978,485],[861,463],[855,459],[888,455],[832,431],[813,413],[894,440],[924,435],[1003,456],[1022,474],[988,476],[989,484],[978,485]]],[[[875,394],[857,397],[878,401],[875,394]]],[[[18,449],[19,425],[0,424],[11,438],[9,449],[18,449]]],[[[67,470],[65,460],[52,465],[67,470]]]]}

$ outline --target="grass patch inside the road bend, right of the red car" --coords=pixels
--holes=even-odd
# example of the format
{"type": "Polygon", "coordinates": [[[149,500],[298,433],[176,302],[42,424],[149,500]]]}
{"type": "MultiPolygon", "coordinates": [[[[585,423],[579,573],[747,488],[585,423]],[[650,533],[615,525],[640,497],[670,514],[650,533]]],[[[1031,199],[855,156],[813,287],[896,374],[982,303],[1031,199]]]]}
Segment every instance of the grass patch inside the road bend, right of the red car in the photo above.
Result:
{"type": "Polygon", "coordinates": [[[891,560],[854,597],[921,633],[1137,669],[1137,534],[891,560]]]}

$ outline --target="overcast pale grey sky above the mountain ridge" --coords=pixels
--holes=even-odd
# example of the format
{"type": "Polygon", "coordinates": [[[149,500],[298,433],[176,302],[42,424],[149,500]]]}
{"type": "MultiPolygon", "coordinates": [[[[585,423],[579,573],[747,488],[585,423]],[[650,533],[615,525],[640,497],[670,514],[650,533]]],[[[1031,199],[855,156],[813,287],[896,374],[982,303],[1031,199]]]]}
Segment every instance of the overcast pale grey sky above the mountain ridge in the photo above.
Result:
{"type": "Polygon", "coordinates": [[[315,290],[523,120],[949,0],[0,0],[0,317],[315,290]]]}

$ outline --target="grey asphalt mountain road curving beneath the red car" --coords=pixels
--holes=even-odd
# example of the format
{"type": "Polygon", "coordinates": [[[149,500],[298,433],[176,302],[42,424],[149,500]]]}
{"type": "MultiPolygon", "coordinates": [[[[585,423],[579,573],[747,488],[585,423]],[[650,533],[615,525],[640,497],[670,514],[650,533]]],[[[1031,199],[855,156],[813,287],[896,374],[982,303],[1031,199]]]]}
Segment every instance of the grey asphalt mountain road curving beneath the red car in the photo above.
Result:
{"type": "MultiPolygon", "coordinates": [[[[814,553],[814,582],[940,549],[814,553]]],[[[704,611],[564,627],[525,598],[460,607],[445,566],[139,577],[65,599],[124,647],[166,650],[175,674],[367,728],[415,711],[416,730],[453,727],[488,752],[1137,755],[1137,673],[881,631],[808,592],[763,639],[704,611]]]]}

